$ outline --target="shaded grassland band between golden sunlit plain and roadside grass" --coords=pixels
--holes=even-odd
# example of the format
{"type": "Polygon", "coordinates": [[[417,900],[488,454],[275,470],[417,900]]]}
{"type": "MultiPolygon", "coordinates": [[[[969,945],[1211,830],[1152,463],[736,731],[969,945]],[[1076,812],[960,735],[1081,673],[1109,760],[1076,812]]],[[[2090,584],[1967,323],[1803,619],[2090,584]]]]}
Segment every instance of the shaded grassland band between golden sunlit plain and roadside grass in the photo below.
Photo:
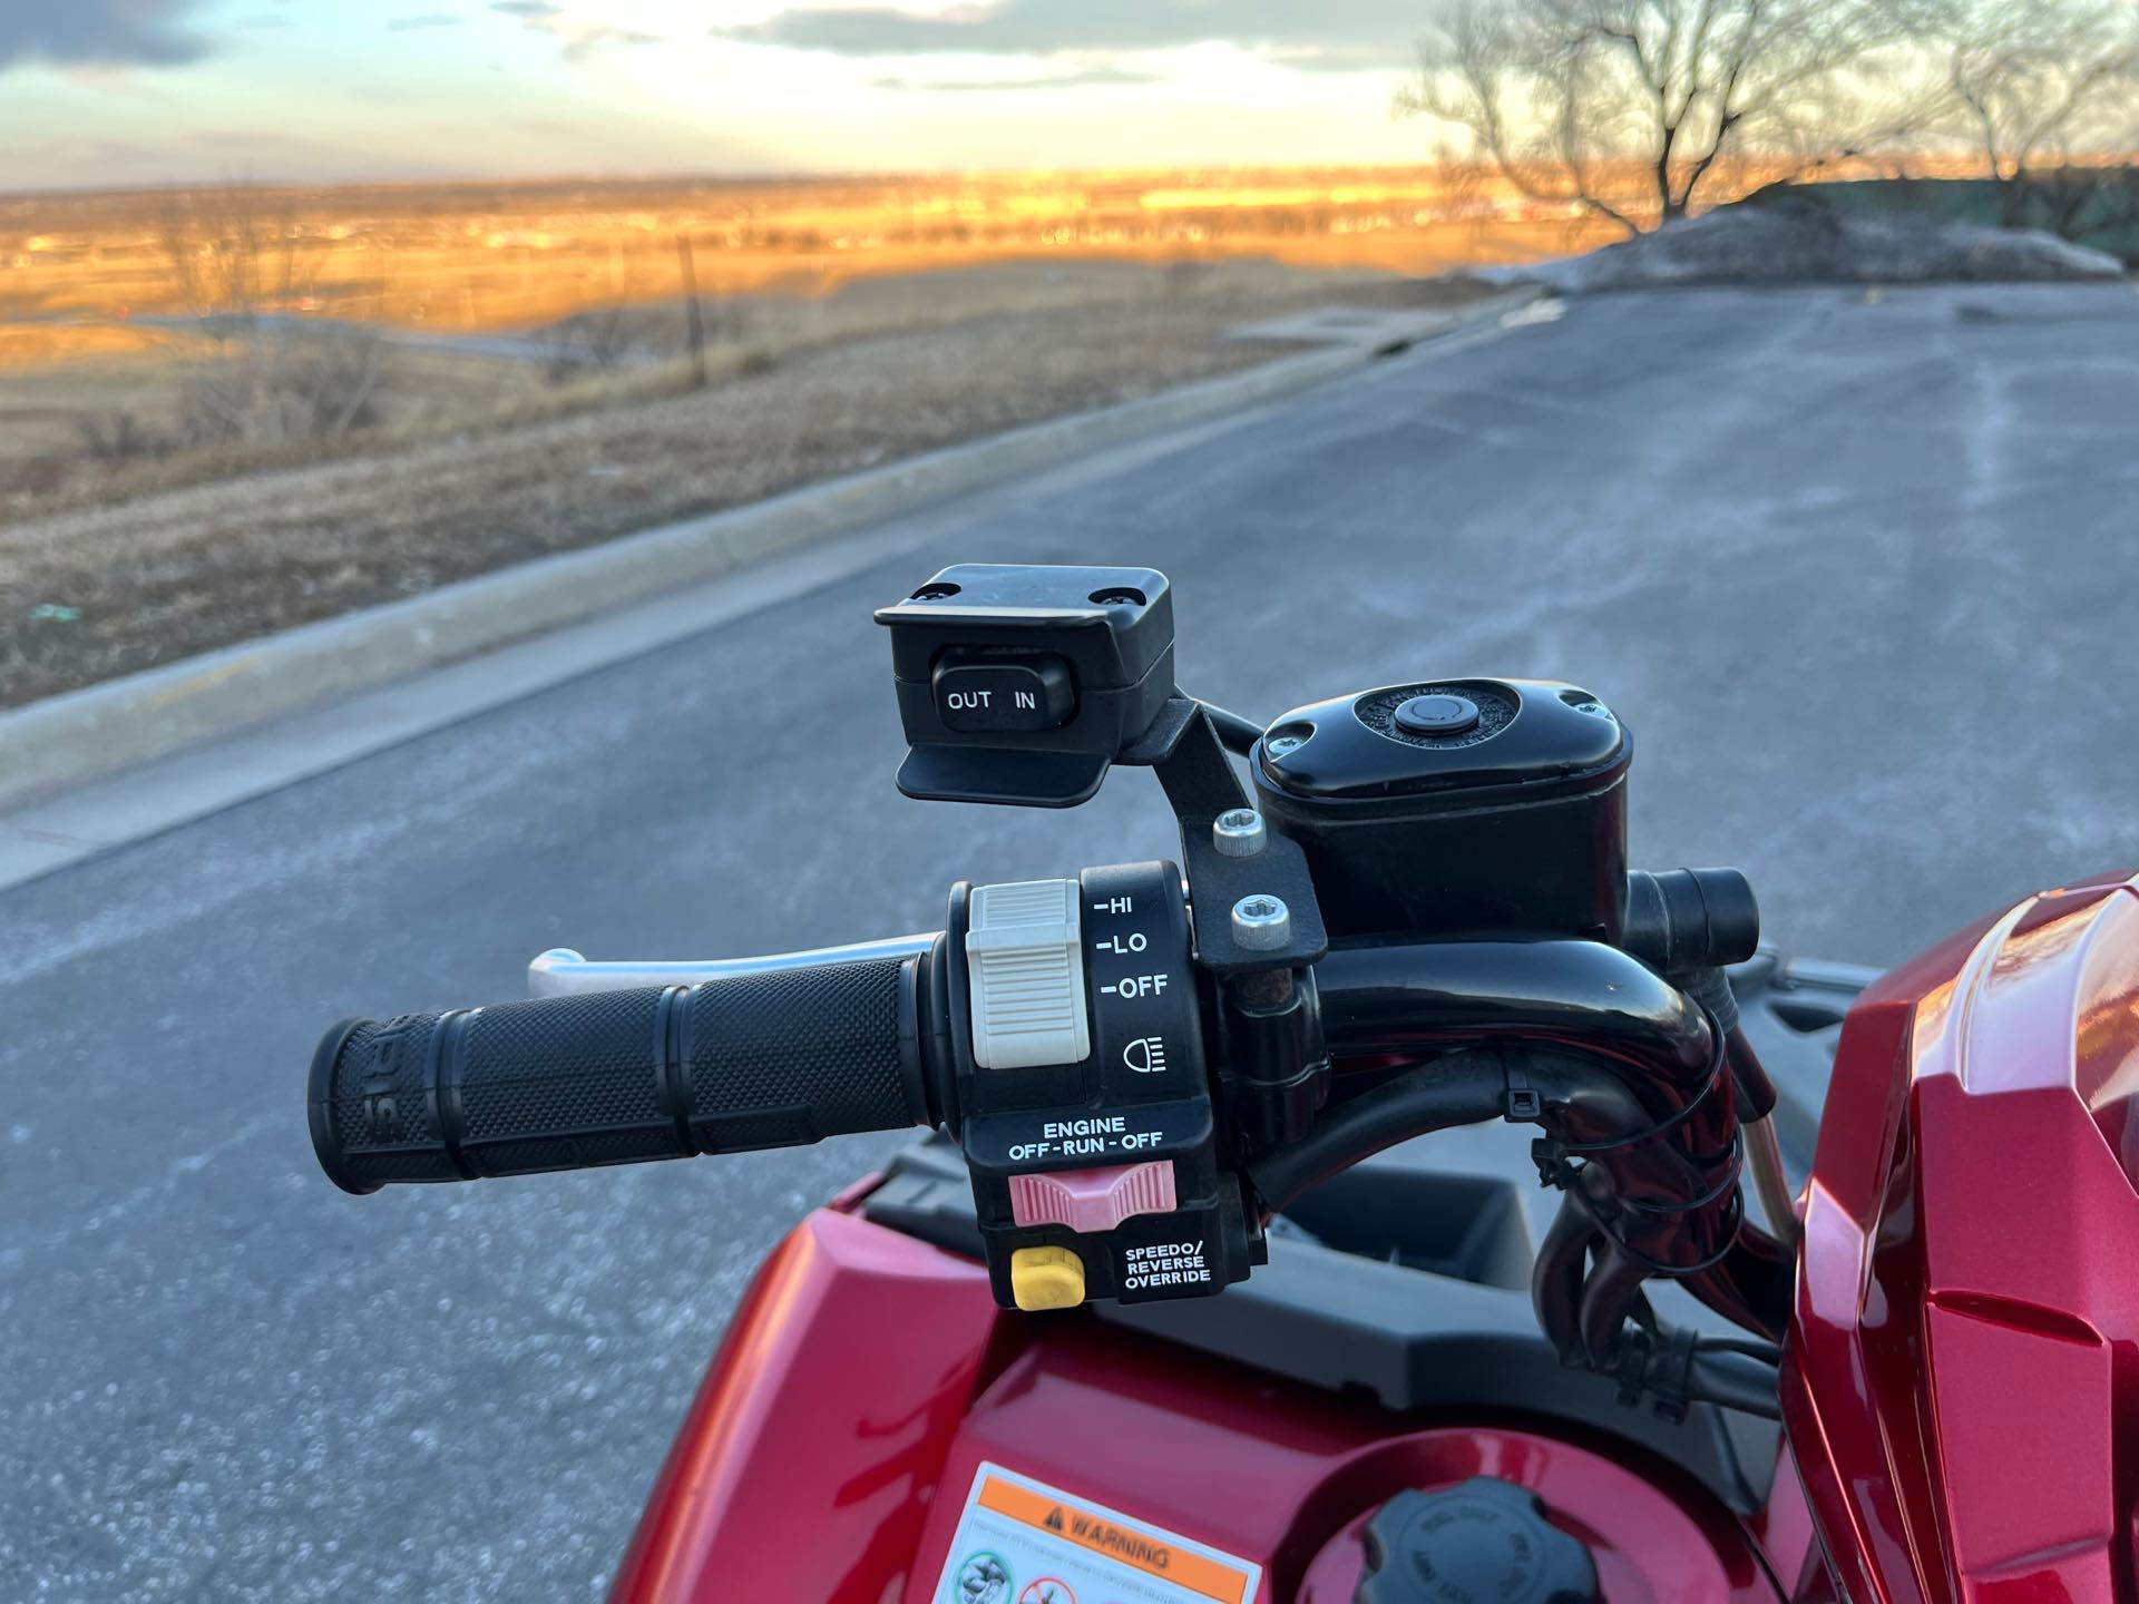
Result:
{"type": "MultiPolygon", "coordinates": [[[[764,291],[699,304],[704,381],[727,383],[800,353],[1001,314],[1102,308],[1224,310],[1388,280],[1264,259],[1052,261],[851,278],[824,295],[764,291]]],[[[0,524],[242,473],[376,456],[441,434],[475,436],[697,387],[680,299],[580,308],[524,331],[276,323],[255,340],[186,327],[92,327],[94,355],[0,368],[0,524]],[[361,351],[361,417],[349,428],[229,428],[210,404],[231,376],[361,351]]],[[[304,376],[299,372],[299,376],[304,376]]],[[[329,368],[332,381],[336,370],[329,368]]],[[[347,374],[344,374],[347,379],[347,374]]],[[[975,383],[986,383],[984,374],[975,383]]]]}

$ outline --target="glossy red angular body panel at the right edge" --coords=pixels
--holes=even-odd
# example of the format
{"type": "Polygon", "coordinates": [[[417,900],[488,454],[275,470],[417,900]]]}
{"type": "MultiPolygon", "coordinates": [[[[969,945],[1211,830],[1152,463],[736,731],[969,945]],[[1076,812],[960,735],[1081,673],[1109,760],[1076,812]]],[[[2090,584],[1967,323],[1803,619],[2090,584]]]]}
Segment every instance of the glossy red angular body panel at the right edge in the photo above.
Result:
{"type": "Polygon", "coordinates": [[[2049,892],[1850,1014],[1784,1412],[1850,1598],[2128,1600],[2139,894],[2049,892]]]}

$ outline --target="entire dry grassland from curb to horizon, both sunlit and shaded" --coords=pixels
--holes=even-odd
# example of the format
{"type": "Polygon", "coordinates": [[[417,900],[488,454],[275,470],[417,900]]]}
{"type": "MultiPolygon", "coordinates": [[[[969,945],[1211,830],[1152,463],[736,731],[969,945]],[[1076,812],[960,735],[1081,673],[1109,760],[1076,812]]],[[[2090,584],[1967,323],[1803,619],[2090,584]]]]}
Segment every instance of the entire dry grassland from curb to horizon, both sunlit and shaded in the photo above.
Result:
{"type": "Polygon", "coordinates": [[[1600,237],[1433,169],[0,197],[0,706],[1600,237]]]}

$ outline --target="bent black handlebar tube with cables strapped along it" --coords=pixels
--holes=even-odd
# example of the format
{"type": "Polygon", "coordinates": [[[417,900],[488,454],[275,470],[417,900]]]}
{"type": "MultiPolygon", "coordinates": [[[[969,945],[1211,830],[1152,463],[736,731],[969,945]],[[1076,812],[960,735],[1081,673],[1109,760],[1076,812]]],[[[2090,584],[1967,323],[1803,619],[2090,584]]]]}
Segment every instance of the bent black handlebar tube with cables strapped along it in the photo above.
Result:
{"type": "MultiPolygon", "coordinates": [[[[1711,1362],[1705,1343],[1681,1354],[1643,1296],[1675,1279],[1771,1341],[1788,1320],[1790,1255],[1745,1221],[1735,1078],[1705,1003],[1587,941],[1333,952],[1318,980],[1333,1052],[1375,1084],[1339,1093],[1303,1142],[1249,1157],[1266,1202],[1407,1136],[1534,1123],[1540,1181],[1564,1200],[1532,1281],[1559,1358],[1641,1379],[1666,1409],[1701,1397],[1718,1362],[1760,1369],[1737,1352],[1711,1362]]],[[[1733,1407],[1760,1397],[1743,1377],[1724,1390],[1733,1407]]]]}

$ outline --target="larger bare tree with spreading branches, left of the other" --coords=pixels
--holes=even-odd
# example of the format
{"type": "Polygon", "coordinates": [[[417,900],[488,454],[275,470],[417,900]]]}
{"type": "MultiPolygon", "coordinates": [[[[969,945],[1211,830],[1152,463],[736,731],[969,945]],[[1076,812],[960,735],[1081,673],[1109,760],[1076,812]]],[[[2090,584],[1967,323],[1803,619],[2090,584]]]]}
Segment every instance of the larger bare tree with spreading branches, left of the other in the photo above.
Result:
{"type": "Polygon", "coordinates": [[[1397,105],[1467,130],[1521,195],[1628,233],[1932,115],[1897,86],[1936,0],[1455,0],[1397,105]]]}

